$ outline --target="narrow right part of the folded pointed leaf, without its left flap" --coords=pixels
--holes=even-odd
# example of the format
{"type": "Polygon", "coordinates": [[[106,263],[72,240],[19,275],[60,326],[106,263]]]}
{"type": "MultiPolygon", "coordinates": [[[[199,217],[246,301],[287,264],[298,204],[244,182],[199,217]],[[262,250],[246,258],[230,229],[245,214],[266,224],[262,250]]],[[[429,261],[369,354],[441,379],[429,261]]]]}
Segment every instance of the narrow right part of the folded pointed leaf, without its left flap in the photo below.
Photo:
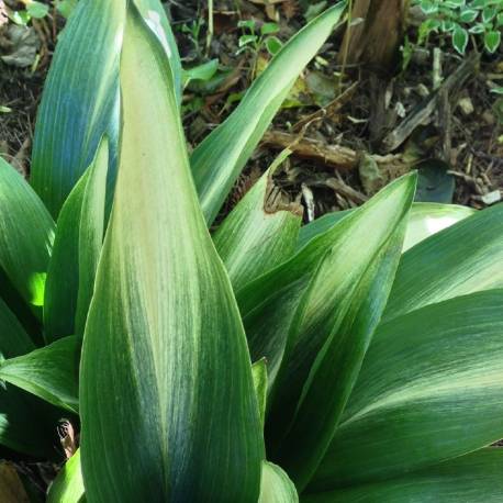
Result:
{"type": "Polygon", "coordinates": [[[281,439],[268,451],[300,490],[328,448],[388,301],[415,181],[398,180],[340,222],[292,322],[267,433],[272,446],[281,439]]]}

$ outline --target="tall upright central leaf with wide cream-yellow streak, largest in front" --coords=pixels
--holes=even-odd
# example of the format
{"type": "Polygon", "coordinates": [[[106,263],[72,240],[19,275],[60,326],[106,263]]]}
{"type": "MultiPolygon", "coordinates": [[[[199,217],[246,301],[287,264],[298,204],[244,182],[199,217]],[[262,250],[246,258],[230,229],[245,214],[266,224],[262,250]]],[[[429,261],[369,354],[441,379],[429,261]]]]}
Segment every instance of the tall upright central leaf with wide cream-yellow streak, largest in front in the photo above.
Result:
{"type": "Polygon", "coordinates": [[[130,4],[119,177],[81,359],[86,493],[255,503],[264,446],[249,355],[165,66],[130,4]]]}

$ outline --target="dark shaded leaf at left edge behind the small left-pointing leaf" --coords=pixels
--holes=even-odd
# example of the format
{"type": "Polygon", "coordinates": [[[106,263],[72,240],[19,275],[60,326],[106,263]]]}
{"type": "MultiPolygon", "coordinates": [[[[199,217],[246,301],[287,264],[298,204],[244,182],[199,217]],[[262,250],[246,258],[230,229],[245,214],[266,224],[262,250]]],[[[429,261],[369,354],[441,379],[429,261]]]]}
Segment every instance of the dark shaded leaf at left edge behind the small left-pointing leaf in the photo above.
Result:
{"type": "MultiPolygon", "coordinates": [[[[33,349],[29,335],[0,299],[0,365],[33,349]]],[[[0,378],[0,445],[32,456],[53,451],[46,413],[45,404],[41,406],[37,399],[0,378]]]]}

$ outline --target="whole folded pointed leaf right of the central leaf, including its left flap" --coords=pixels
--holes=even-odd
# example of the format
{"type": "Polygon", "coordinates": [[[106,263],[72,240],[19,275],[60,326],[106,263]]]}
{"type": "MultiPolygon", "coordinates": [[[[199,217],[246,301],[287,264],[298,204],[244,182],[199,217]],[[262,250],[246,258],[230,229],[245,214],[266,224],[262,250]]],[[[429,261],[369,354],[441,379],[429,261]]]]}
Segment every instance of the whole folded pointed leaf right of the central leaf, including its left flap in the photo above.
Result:
{"type": "Polygon", "coordinates": [[[289,261],[238,292],[252,356],[266,357],[268,361],[272,388],[266,426],[268,452],[297,479],[298,487],[315,469],[331,439],[353,385],[354,372],[385,302],[391,287],[388,272],[391,273],[400,257],[400,235],[414,183],[415,177],[411,176],[390,185],[289,261]],[[351,257],[350,267],[348,257],[351,257]],[[379,294],[372,290],[377,282],[379,294]],[[364,292],[375,302],[371,315],[367,315],[364,292]],[[361,309],[361,317],[355,318],[351,332],[350,320],[357,306],[361,309]],[[353,340],[345,336],[349,333],[353,340]],[[344,367],[331,364],[337,355],[347,358],[348,364],[344,367]],[[337,376],[328,377],[328,369],[337,376]],[[325,371],[327,375],[313,385],[312,376],[325,371]],[[333,391],[329,399],[327,381],[333,391]],[[306,428],[311,401],[316,400],[323,387],[320,414],[312,417],[306,428]]]}

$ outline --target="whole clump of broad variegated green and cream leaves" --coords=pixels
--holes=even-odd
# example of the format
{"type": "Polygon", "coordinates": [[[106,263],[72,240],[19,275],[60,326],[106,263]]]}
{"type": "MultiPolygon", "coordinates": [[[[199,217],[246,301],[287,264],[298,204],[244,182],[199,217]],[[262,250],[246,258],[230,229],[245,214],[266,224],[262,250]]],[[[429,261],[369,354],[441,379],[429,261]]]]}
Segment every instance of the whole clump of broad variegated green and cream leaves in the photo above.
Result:
{"type": "Polygon", "coordinates": [[[189,157],[160,3],[79,2],[33,188],[0,160],[0,444],[57,461],[81,426],[49,502],[499,501],[502,205],[413,204],[410,174],[301,227],[286,152],[208,231],[344,8],[189,157]]]}

